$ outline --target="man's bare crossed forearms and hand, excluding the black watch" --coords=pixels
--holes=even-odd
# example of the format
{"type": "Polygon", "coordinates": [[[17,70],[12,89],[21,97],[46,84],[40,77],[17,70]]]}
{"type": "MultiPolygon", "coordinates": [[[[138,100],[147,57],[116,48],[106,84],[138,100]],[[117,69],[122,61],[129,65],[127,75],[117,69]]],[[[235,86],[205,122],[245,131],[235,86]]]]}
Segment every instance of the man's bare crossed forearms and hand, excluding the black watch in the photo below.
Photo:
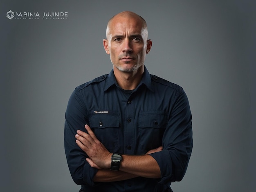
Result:
{"type": "Polygon", "coordinates": [[[85,125],[88,134],[77,131],[76,144],[89,156],[86,161],[91,167],[97,168],[94,182],[112,182],[132,179],[137,176],[147,178],[160,178],[161,172],[157,161],[151,153],[162,151],[162,147],[148,151],[145,155],[122,155],[121,166],[118,172],[110,170],[111,156],[106,147],[97,139],[88,125],[85,125]]]}

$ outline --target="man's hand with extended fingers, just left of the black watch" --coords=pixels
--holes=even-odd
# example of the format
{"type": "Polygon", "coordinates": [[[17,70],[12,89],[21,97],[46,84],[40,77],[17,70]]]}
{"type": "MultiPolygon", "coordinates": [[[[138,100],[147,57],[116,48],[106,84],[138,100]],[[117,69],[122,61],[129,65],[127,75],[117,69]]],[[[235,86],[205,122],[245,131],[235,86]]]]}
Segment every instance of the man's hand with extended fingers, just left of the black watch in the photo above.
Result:
{"type": "Polygon", "coordinates": [[[92,129],[85,125],[88,134],[78,130],[76,133],[76,144],[89,156],[86,161],[97,169],[110,168],[111,153],[97,139],[92,129]]]}

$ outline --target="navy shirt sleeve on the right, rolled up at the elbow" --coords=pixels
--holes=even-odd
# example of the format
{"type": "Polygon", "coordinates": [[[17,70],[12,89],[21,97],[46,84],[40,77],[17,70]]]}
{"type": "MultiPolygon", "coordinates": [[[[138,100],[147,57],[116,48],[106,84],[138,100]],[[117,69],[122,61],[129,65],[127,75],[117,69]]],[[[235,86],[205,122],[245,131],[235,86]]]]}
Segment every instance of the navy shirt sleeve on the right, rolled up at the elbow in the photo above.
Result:
{"type": "Polygon", "coordinates": [[[161,170],[159,183],[181,181],[184,177],[193,147],[191,119],[189,101],[182,89],[168,119],[162,139],[163,150],[150,154],[161,170]]]}

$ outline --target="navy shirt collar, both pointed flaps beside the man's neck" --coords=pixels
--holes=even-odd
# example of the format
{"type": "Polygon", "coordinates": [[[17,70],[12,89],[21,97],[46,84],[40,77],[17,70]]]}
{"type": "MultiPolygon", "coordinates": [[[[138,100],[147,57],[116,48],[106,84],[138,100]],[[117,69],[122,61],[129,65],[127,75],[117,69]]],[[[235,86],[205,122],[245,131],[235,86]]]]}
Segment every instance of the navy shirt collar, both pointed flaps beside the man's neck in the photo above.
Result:
{"type": "MultiPolygon", "coordinates": [[[[149,74],[146,66],[144,65],[144,73],[143,73],[143,77],[141,79],[141,82],[139,83],[139,85],[137,86],[136,89],[138,89],[138,87],[140,87],[141,85],[146,85],[146,87],[153,92],[153,87],[152,87],[152,83],[151,83],[151,75],[149,74]]],[[[110,73],[108,74],[108,77],[106,79],[106,83],[105,83],[105,88],[104,88],[104,92],[108,89],[110,89],[110,87],[112,86],[116,86],[119,87],[117,85],[117,81],[114,75],[114,71],[113,69],[110,71],[110,73]]],[[[135,89],[135,90],[136,90],[135,89]]]]}

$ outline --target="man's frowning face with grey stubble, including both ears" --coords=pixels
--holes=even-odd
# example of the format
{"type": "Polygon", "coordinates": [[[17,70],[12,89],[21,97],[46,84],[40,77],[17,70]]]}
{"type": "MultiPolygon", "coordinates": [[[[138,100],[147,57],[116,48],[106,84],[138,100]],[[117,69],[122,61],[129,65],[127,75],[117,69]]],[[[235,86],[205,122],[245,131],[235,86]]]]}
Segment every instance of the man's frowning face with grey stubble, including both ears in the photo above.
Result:
{"type": "Polygon", "coordinates": [[[145,56],[152,45],[147,38],[148,31],[138,18],[114,18],[108,27],[107,40],[103,40],[114,68],[131,72],[144,65],[145,56]]]}

